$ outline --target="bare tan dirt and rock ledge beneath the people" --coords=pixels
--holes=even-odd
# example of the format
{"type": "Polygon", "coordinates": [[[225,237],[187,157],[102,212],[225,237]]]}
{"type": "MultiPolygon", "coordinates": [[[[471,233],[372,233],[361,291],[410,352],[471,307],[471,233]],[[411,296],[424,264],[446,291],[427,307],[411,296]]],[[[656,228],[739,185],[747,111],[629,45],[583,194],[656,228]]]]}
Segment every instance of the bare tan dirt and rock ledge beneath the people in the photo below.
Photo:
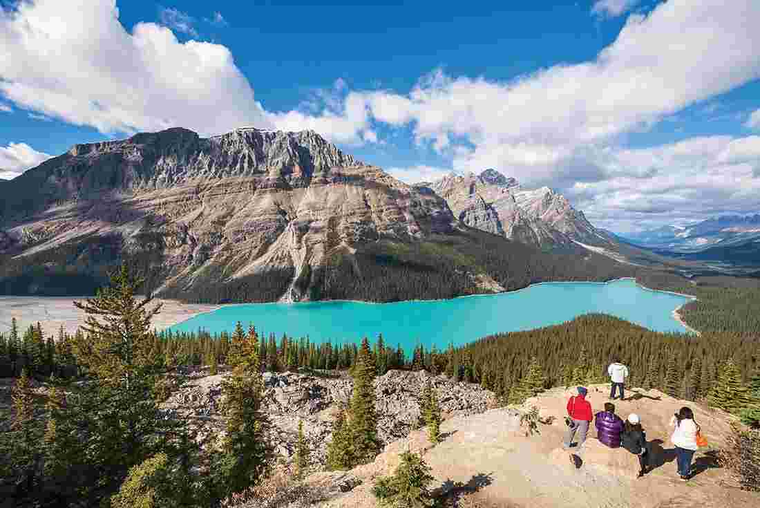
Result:
{"type": "MultiPolygon", "coordinates": [[[[608,385],[590,386],[589,400],[594,413],[603,408],[608,385]]],[[[596,430],[581,452],[583,464],[575,468],[568,452],[561,448],[565,424],[565,402],[574,390],[554,389],[530,399],[540,408],[542,418],[556,417],[551,425],[540,425],[540,435],[526,437],[514,411],[494,409],[467,418],[452,418],[442,424],[445,440],[431,447],[424,431],[406,440],[391,443],[370,465],[352,474],[363,484],[349,494],[323,506],[375,506],[372,483],[378,475],[393,471],[397,457],[406,449],[422,451],[435,476],[435,487],[452,487],[470,494],[468,500],[488,506],[537,508],[698,508],[730,506],[757,508],[760,495],[726,488],[726,471],[717,468],[711,449],[695,455],[697,474],[688,483],[679,481],[675,455],[670,444],[668,423],[682,405],[695,411],[711,445],[720,445],[729,432],[725,414],[711,412],[692,403],[670,398],[655,390],[627,392],[628,400],[615,401],[616,412],[627,417],[641,416],[647,437],[654,442],[657,468],[644,478],[636,478],[638,461],[624,449],[609,449],[596,439],[596,430]]],[[[467,506],[466,504],[464,506],[467,506]]]]}

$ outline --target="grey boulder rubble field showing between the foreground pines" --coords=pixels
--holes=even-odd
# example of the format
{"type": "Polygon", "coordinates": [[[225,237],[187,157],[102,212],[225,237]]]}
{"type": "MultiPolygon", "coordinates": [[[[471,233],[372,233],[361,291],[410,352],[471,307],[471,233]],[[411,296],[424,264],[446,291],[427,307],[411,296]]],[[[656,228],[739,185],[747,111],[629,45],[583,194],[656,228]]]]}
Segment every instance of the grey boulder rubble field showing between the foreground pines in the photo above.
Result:
{"type": "MultiPolygon", "coordinates": [[[[166,408],[180,418],[198,424],[223,428],[220,414],[223,375],[198,378],[176,392],[166,408]]],[[[445,376],[425,371],[391,370],[375,379],[375,410],[378,411],[378,437],[387,444],[406,437],[420,422],[420,397],[427,382],[432,383],[445,416],[478,414],[496,404],[493,392],[467,383],[452,383],[445,376]]],[[[264,373],[264,411],[274,426],[277,452],[290,457],[295,452],[299,421],[312,451],[312,462],[325,462],[331,440],[334,411],[347,405],[353,381],[346,376],[328,378],[299,373],[264,373]]]]}

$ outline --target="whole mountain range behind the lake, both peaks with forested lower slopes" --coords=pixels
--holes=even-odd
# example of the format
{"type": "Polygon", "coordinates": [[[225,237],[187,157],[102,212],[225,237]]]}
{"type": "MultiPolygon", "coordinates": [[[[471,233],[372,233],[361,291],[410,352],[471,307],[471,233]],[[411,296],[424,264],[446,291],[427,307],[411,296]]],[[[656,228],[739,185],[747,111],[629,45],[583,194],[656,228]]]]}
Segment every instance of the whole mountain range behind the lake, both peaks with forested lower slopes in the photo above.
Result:
{"type": "Polygon", "coordinates": [[[0,198],[2,294],[91,294],[123,261],[150,291],[196,302],[445,298],[632,275],[597,252],[547,252],[609,241],[549,189],[494,170],[410,186],[313,131],[77,144],[0,198]]]}

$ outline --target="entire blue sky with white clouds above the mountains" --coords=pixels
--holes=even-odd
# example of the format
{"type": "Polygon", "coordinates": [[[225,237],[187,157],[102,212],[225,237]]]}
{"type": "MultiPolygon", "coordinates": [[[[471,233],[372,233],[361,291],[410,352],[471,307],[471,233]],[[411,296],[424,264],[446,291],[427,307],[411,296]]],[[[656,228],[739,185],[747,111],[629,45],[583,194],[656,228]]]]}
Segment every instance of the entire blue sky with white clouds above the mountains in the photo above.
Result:
{"type": "Polygon", "coordinates": [[[755,0],[0,5],[0,177],[254,125],[409,182],[496,167],[619,231],[760,208],[755,0]]]}

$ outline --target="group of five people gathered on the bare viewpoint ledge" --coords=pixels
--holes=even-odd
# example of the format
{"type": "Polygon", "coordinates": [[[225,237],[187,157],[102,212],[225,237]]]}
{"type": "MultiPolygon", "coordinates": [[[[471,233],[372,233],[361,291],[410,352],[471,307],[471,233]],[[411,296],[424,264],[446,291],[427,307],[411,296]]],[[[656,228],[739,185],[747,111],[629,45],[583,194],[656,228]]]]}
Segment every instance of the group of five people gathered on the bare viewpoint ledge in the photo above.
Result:
{"type": "MultiPolygon", "coordinates": [[[[619,390],[620,400],[623,400],[625,378],[629,375],[628,368],[616,359],[607,369],[607,373],[612,380],[610,398],[614,400],[616,391],[619,390]]],[[[591,404],[586,400],[587,393],[588,390],[584,386],[578,386],[578,395],[573,395],[568,400],[568,418],[565,418],[568,431],[563,443],[565,449],[571,449],[575,446],[580,451],[586,441],[591,421],[595,420],[594,424],[597,427],[597,437],[600,442],[610,448],[622,447],[638,456],[638,478],[646,475],[651,471],[653,465],[652,452],[651,443],[647,442],[646,433],[641,427],[641,418],[638,417],[638,414],[629,414],[628,418],[622,421],[615,414],[615,405],[611,402],[606,402],[604,411],[599,411],[594,415],[591,411],[591,404]],[[573,443],[576,436],[578,437],[577,443],[573,443]]],[[[678,474],[682,481],[688,481],[692,477],[692,458],[698,449],[699,426],[694,421],[692,410],[686,407],[673,414],[673,418],[670,419],[670,426],[674,427],[670,440],[676,448],[678,474]]],[[[570,458],[577,467],[578,452],[571,454],[570,458]]]]}

